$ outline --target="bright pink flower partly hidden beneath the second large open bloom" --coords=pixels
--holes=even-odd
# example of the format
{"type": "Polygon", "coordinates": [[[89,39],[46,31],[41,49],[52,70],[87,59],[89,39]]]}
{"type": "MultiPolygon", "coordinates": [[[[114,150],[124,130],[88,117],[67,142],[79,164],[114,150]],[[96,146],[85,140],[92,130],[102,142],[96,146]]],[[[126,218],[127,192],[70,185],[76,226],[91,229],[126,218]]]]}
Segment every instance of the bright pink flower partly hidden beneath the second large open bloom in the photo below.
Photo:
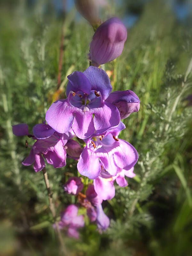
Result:
{"type": "Polygon", "coordinates": [[[133,170],[134,167],[132,167],[130,170],[119,169],[116,176],[111,176],[102,169],[100,176],[93,180],[95,192],[103,200],[112,199],[115,196],[114,181],[116,180],[120,187],[126,187],[128,183],[124,176],[133,178],[135,176],[133,170]]]}

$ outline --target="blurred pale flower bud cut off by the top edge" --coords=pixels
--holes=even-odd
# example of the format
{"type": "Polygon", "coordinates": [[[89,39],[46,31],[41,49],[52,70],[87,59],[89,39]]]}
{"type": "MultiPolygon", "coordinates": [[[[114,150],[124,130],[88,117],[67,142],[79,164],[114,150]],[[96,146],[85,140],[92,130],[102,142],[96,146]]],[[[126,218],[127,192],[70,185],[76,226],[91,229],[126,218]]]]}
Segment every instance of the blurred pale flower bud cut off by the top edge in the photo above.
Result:
{"type": "Polygon", "coordinates": [[[99,2],[95,0],[75,0],[78,12],[92,25],[99,22],[99,2]]]}

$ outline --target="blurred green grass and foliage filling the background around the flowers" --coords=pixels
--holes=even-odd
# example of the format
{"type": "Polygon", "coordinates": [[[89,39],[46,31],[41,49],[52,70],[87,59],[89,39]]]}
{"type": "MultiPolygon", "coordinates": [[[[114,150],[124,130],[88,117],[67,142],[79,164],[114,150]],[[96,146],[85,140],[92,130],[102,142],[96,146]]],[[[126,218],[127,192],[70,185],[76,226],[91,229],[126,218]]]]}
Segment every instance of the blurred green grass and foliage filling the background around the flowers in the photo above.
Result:
{"type": "MultiPolygon", "coordinates": [[[[57,88],[62,29],[64,88],[66,75],[88,67],[93,31],[75,20],[74,9],[58,18],[44,1],[33,8],[26,3],[2,2],[0,9],[1,255],[58,255],[43,174],[21,164],[29,149],[11,125],[32,129],[44,121],[57,88]]],[[[106,15],[117,15],[117,8],[111,5],[106,15]]],[[[87,218],[80,240],[63,232],[71,255],[191,255],[192,118],[184,100],[192,93],[191,45],[191,28],[179,24],[163,1],[150,1],[130,29],[123,54],[102,65],[111,71],[114,90],[131,89],[141,100],[120,134],[139,152],[137,176],[127,188],[116,185],[115,198],[103,203],[111,219],[106,232],[100,235],[87,218]]],[[[76,202],[62,189],[70,174],[77,175],[76,162],[47,170],[59,218],[76,202]]]]}

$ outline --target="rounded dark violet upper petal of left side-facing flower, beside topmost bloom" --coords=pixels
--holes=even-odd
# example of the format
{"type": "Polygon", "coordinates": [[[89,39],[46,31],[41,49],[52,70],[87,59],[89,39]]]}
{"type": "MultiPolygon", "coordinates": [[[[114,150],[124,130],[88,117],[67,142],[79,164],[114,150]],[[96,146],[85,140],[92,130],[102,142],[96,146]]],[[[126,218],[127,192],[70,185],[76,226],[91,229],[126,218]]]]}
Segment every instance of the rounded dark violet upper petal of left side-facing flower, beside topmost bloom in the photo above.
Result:
{"type": "Polygon", "coordinates": [[[33,134],[39,140],[47,139],[55,132],[48,124],[36,124],[33,127],[33,134]]]}

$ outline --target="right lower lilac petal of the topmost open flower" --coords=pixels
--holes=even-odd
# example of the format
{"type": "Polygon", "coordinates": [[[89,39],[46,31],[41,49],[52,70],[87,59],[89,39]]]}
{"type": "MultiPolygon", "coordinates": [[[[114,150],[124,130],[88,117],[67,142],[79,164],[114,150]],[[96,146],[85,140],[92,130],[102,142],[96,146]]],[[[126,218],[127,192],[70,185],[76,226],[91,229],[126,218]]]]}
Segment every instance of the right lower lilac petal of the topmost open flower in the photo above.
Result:
{"type": "Polygon", "coordinates": [[[104,103],[101,108],[93,108],[95,114],[93,122],[95,130],[99,133],[105,132],[120,123],[119,110],[111,103],[104,103]]]}

